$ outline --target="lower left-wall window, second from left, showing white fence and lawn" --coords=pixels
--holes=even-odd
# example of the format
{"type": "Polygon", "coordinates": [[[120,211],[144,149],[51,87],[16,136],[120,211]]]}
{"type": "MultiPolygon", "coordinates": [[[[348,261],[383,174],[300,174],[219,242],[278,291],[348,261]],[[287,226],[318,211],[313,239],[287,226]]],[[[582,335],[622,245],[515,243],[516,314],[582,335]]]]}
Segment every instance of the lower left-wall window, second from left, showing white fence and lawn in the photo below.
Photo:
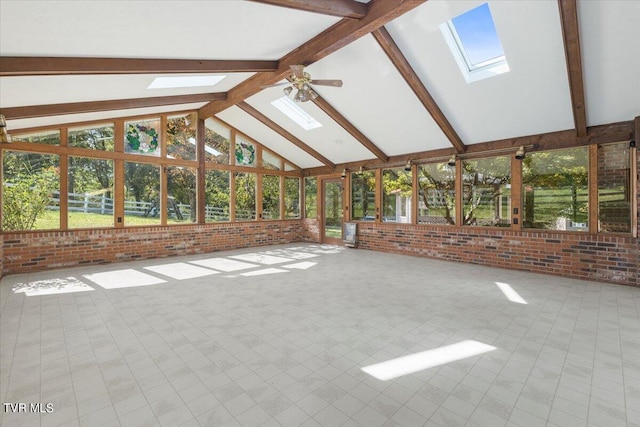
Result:
{"type": "Polygon", "coordinates": [[[113,227],[113,160],[69,157],[69,228],[113,227]]]}

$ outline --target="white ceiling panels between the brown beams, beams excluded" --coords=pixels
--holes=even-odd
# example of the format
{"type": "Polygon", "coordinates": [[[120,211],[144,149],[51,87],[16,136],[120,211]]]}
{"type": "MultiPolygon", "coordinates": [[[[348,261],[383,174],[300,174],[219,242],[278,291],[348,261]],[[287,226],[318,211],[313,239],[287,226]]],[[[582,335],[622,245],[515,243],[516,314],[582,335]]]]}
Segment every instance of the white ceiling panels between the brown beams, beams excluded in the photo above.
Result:
{"type": "MultiPolygon", "coordinates": [[[[382,1],[382,0],[378,0],[382,1]]],[[[489,1],[510,72],[467,84],[438,25],[480,1],[430,0],[386,25],[422,84],[464,144],[573,128],[558,3],[489,1]]],[[[587,124],[640,116],[640,2],[578,2],[587,124]]],[[[251,1],[0,0],[0,55],[278,60],[339,18],[251,1]]],[[[318,93],[386,155],[452,145],[371,35],[311,64],[317,79],[342,88],[318,93]]],[[[0,78],[0,108],[226,92],[253,73],[228,73],[214,87],[146,89],[154,75],[0,78]]],[[[312,103],[323,126],[304,131],[271,101],[281,88],[246,102],[331,162],[375,158],[312,103]]],[[[109,117],[156,114],[203,104],[8,120],[9,132],[109,117]]],[[[302,168],[322,163],[238,107],[217,115],[302,168]]]]}

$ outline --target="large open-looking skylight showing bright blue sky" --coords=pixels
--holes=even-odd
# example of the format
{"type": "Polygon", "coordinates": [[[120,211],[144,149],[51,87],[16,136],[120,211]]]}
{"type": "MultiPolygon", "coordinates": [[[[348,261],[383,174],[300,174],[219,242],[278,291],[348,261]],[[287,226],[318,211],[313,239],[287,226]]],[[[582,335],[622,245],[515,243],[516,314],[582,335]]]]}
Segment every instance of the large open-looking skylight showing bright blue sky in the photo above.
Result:
{"type": "Polygon", "coordinates": [[[440,30],[467,83],[509,71],[488,3],[441,24],[440,30]]]}

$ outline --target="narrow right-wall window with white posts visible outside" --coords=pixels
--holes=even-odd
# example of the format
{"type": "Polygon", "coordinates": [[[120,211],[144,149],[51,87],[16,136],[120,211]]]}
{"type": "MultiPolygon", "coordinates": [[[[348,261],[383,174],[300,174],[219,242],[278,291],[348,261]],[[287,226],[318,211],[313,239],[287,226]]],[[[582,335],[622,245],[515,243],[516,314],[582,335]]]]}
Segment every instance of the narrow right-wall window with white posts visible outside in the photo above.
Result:
{"type": "Polygon", "coordinates": [[[382,220],[411,222],[411,171],[403,168],[382,171],[382,220]]]}

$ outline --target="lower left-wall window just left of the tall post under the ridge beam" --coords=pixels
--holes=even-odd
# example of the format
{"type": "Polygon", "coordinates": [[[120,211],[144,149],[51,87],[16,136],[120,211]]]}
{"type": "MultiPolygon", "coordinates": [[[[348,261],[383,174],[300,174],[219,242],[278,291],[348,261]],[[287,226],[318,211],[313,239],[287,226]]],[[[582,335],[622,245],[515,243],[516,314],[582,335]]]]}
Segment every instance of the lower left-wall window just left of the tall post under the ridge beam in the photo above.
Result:
{"type": "Polygon", "coordinates": [[[196,222],[195,168],[168,166],[167,171],[167,223],[182,224],[196,222]]]}

